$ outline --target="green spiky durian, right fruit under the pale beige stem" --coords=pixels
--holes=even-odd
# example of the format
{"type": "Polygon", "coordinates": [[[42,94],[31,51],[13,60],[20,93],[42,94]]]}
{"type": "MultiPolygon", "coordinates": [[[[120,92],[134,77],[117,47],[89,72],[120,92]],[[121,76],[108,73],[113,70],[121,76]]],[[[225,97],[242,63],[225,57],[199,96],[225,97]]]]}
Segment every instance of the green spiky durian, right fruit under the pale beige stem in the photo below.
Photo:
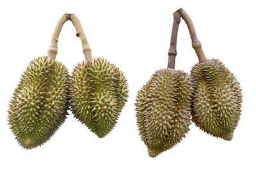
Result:
{"type": "Polygon", "coordinates": [[[72,113],[103,138],[115,126],[127,101],[124,73],[105,59],[93,59],[77,64],[70,85],[72,113]]]}

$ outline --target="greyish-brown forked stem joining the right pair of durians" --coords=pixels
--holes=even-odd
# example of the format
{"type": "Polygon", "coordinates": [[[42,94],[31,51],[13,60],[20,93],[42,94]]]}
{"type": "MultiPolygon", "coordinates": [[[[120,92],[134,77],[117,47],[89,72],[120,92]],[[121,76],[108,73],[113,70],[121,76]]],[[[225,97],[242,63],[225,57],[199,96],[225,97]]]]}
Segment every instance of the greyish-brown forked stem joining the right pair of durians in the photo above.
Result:
{"type": "MultiPolygon", "coordinates": [[[[180,17],[182,17],[182,19],[185,21],[186,25],[188,26],[190,38],[192,40],[192,47],[194,48],[194,50],[196,52],[199,62],[204,62],[207,59],[204,55],[202,45],[196,36],[196,31],[195,31],[193,22],[192,22],[191,18],[189,17],[188,13],[186,13],[186,11],[184,11],[182,8],[180,8],[179,10],[175,11],[175,13],[173,13],[173,27],[175,29],[179,28],[180,22],[177,22],[177,20],[180,20],[180,17]]],[[[171,45],[170,45],[169,52],[168,52],[168,54],[176,53],[175,56],[177,55],[177,50],[176,50],[177,32],[178,32],[178,30],[172,31],[171,45]],[[172,42],[174,42],[174,43],[172,43],[172,42]]],[[[171,62],[170,57],[173,60],[173,54],[169,55],[168,66],[169,66],[169,60],[170,60],[170,66],[172,66],[172,64],[173,64],[171,62]]],[[[175,64],[175,57],[174,57],[174,64],[175,64]]]]}

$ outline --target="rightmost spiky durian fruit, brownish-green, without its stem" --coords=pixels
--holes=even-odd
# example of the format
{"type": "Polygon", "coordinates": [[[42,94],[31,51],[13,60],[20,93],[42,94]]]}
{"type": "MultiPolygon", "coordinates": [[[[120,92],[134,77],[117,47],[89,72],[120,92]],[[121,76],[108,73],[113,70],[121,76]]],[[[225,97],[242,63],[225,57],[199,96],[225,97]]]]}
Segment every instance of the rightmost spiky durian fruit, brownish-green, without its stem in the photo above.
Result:
{"type": "Polygon", "coordinates": [[[239,82],[220,60],[206,60],[191,69],[192,120],[207,134],[231,140],[241,115],[239,82]]]}

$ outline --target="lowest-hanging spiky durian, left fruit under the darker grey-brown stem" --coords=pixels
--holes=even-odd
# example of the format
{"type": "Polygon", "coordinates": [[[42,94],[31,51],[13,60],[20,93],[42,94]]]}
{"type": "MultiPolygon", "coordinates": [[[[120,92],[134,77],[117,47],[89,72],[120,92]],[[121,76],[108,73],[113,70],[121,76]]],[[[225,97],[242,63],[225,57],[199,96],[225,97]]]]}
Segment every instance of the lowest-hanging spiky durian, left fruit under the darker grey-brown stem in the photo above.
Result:
{"type": "Polygon", "coordinates": [[[136,97],[136,118],[148,155],[156,157],[189,131],[191,81],[175,69],[156,71],[136,97]]]}

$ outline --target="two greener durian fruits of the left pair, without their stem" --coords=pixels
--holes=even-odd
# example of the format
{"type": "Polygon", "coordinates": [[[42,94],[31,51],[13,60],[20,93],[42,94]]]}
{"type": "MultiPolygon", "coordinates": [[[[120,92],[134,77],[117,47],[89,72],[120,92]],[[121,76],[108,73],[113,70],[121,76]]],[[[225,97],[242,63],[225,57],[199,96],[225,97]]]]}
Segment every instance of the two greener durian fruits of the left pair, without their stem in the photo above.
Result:
{"type": "Polygon", "coordinates": [[[13,93],[9,124],[22,147],[35,148],[65,121],[70,102],[75,117],[103,138],[115,126],[127,97],[124,73],[104,59],[78,64],[70,78],[60,62],[38,57],[13,93]]]}

